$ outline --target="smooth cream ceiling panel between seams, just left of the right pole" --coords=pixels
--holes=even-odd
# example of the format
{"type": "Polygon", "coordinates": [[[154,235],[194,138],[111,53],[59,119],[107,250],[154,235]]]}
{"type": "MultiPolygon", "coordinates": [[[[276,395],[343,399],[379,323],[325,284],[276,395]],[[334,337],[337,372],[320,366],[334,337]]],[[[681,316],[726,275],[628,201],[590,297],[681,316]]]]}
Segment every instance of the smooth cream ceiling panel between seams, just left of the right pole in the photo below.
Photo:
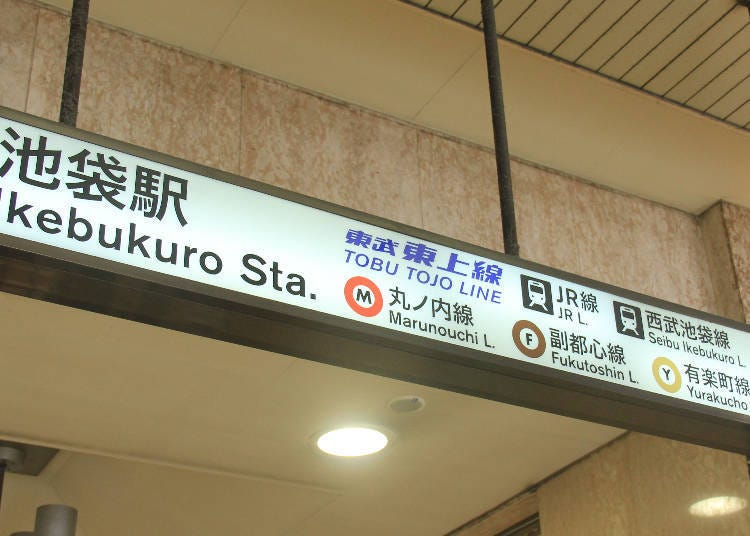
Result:
{"type": "Polygon", "coordinates": [[[413,117],[481,47],[450,20],[389,2],[249,0],[214,56],[348,101],[413,117]],[[293,38],[290,38],[293,36],[293,38]]]}

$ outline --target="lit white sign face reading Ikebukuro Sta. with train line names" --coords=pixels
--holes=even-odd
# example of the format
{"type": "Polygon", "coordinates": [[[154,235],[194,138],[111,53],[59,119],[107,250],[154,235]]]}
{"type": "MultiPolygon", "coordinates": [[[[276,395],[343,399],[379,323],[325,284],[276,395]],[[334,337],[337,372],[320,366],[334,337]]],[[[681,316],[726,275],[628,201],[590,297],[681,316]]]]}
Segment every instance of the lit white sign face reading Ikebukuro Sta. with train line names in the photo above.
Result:
{"type": "Polygon", "coordinates": [[[748,415],[750,333],[0,118],[0,233],[748,415]]]}

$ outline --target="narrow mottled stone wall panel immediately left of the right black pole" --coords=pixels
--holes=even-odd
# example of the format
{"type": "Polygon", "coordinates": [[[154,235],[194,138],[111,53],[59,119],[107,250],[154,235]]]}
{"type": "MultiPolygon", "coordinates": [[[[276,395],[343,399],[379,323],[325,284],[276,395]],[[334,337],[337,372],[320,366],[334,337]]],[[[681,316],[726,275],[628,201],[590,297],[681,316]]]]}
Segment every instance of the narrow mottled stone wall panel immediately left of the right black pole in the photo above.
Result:
{"type": "Polygon", "coordinates": [[[424,227],[496,251],[503,249],[494,155],[419,133],[419,184],[424,227]]]}

